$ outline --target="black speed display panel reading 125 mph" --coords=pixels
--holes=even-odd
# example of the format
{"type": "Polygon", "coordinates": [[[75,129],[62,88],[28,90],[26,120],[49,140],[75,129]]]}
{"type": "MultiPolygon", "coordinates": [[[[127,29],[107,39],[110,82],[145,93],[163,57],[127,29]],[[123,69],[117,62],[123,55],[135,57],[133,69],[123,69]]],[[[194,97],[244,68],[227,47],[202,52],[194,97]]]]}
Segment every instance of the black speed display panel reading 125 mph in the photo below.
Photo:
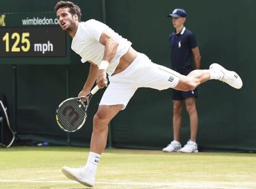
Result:
{"type": "Polygon", "coordinates": [[[66,33],[60,27],[0,29],[0,57],[54,56],[66,56],[66,33]]]}

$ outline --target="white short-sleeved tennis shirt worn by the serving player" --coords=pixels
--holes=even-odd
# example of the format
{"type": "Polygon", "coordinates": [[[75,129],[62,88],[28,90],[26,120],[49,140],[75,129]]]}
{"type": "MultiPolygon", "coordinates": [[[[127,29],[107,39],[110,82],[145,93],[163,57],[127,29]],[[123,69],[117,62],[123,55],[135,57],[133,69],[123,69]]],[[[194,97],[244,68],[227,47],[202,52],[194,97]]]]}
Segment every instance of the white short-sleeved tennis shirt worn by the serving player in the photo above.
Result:
{"type": "Polygon", "coordinates": [[[94,19],[88,20],[87,22],[80,22],[77,33],[75,33],[72,40],[71,49],[82,57],[82,63],[90,61],[100,66],[105,51],[105,46],[99,42],[103,31],[107,31],[119,43],[116,55],[114,55],[113,60],[109,63],[108,69],[106,70],[106,73],[111,75],[116,70],[120,58],[126,54],[132,43],[122,38],[122,36],[109,28],[109,26],[94,19]]]}

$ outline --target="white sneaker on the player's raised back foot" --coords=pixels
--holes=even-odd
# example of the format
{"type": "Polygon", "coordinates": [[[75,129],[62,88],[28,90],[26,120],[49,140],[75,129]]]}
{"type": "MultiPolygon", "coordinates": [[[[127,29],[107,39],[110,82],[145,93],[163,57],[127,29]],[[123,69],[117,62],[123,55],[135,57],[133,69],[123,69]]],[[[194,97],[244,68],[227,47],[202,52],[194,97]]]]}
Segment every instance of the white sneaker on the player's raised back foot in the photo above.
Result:
{"type": "Polygon", "coordinates": [[[212,63],[210,65],[210,69],[220,70],[223,73],[223,77],[220,81],[226,82],[229,86],[234,87],[236,89],[241,89],[242,87],[242,79],[239,75],[234,71],[229,71],[223,68],[223,66],[218,63],[212,63]]]}

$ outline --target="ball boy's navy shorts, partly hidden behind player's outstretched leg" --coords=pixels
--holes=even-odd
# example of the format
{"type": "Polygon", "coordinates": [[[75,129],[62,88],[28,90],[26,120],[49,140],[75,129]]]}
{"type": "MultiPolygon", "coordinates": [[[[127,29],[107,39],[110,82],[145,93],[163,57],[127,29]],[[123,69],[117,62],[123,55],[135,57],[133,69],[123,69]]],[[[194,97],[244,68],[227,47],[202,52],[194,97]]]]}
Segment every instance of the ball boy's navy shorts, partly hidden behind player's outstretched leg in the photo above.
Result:
{"type": "MultiPolygon", "coordinates": [[[[190,71],[192,71],[192,70],[193,70],[192,67],[188,67],[188,68],[179,69],[176,71],[187,76],[187,74],[189,74],[190,71]]],[[[181,90],[173,89],[173,92],[172,92],[173,100],[185,100],[185,99],[189,99],[190,97],[195,97],[195,98],[198,97],[198,89],[197,88],[195,88],[194,90],[189,90],[189,91],[181,91],[181,90]]]]}

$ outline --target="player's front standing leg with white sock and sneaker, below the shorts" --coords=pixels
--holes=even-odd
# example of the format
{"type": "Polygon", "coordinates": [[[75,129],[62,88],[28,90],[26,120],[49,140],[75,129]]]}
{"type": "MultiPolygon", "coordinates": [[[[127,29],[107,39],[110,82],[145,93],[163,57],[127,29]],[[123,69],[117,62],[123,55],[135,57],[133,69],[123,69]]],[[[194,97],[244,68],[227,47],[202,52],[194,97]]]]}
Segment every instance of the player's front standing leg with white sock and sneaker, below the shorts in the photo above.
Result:
{"type": "Polygon", "coordinates": [[[93,133],[87,164],[80,168],[62,167],[69,179],[76,180],[87,187],[93,187],[100,155],[108,139],[108,123],[122,109],[122,105],[100,105],[93,118],[93,133]]]}

